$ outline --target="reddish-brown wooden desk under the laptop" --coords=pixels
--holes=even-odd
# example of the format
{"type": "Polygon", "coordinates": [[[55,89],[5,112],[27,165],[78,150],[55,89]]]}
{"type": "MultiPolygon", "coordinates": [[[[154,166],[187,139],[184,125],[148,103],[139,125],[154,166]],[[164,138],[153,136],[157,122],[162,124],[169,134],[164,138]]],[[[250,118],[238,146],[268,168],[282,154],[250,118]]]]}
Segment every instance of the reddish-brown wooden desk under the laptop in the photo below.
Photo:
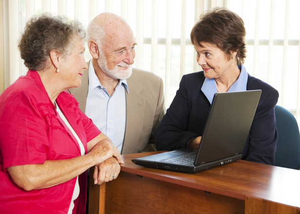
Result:
{"type": "Polygon", "coordinates": [[[106,214],[300,214],[298,170],[238,160],[186,174],[131,162],[152,154],[123,155],[117,179],[90,182],[89,214],[104,214],[104,204],[106,214]]]}

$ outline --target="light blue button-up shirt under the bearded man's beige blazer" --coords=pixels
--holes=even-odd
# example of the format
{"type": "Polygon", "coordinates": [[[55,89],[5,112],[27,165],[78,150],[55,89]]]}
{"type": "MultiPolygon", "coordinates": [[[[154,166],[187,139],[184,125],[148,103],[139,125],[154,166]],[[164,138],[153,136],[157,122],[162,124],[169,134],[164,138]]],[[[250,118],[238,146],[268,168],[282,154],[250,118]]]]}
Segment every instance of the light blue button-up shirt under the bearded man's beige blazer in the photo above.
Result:
{"type": "Polygon", "coordinates": [[[100,131],[108,136],[121,152],[126,125],[126,99],[128,93],[126,79],[120,79],[110,97],[95,74],[93,63],[89,64],[89,83],[85,114],[90,117],[100,131]]]}

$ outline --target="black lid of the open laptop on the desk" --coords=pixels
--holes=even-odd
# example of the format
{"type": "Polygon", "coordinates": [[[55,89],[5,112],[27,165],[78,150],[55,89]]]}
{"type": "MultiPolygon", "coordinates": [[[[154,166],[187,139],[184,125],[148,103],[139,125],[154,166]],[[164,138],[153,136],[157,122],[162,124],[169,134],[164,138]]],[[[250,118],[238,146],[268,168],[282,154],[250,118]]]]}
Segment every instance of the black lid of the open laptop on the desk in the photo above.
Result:
{"type": "Polygon", "coordinates": [[[261,90],[215,94],[195,165],[242,153],[260,94],[261,90]]]}

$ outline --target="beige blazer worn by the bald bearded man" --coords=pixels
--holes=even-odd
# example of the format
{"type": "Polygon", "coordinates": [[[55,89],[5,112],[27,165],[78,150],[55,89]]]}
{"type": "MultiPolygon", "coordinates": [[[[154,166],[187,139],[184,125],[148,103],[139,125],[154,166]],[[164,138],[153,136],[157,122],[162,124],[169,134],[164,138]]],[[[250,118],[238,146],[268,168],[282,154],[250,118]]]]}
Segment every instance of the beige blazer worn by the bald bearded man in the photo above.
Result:
{"type": "MultiPolygon", "coordinates": [[[[155,151],[155,130],[165,114],[163,82],[152,72],[133,68],[126,79],[126,126],[121,154],[155,151]]],[[[88,69],[83,73],[81,85],[69,92],[85,112],[88,92],[88,69]]]]}

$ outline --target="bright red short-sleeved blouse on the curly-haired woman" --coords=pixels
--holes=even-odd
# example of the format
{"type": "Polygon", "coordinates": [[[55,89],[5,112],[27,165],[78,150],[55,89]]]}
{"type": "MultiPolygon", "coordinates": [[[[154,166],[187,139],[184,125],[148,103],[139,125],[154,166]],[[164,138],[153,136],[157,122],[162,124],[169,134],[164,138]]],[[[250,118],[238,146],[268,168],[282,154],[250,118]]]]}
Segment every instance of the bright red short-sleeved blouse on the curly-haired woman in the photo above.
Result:
{"type": "MultiPolygon", "coordinates": [[[[87,151],[87,142],[101,132],[67,92],[57,104],[87,151]]],[[[75,137],[66,130],[36,71],[28,71],[0,95],[0,213],[67,213],[76,177],[59,185],[25,191],[7,167],[80,156],[75,137]]],[[[84,214],[86,173],[79,176],[80,196],[73,213],[84,214]]]]}

